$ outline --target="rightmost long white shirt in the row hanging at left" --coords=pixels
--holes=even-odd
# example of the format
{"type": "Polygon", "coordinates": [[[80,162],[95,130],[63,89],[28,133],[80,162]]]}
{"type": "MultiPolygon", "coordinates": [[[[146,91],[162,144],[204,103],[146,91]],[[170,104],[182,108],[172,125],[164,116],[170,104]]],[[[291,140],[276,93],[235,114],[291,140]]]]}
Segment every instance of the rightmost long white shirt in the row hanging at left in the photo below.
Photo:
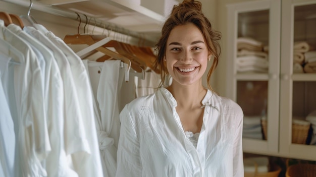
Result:
{"type": "Polygon", "coordinates": [[[97,133],[95,130],[92,91],[89,86],[90,82],[87,71],[81,58],[61,38],[49,32],[40,24],[34,25],[37,30],[41,31],[52,43],[63,51],[70,64],[83,118],[84,131],[86,132],[86,136],[89,137],[88,145],[91,151],[90,153],[81,154],[81,156],[73,156],[73,165],[80,176],[103,176],[100,153],[98,151],[97,133]]]}

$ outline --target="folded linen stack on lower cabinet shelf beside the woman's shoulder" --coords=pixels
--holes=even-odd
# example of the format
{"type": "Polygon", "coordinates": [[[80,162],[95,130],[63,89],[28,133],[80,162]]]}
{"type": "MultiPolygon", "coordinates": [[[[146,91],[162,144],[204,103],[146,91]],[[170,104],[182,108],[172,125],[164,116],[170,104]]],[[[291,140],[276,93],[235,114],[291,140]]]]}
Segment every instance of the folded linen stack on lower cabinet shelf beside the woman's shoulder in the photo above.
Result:
{"type": "Polygon", "coordinates": [[[262,116],[244,116],[242,137],[262,140],[262,116]]]}

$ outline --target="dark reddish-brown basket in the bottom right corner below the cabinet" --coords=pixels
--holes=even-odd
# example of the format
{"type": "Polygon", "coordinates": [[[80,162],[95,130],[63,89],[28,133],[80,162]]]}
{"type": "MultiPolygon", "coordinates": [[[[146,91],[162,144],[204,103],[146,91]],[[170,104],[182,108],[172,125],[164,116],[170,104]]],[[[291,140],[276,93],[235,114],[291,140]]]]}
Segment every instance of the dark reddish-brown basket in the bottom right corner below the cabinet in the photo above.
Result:
{"type": "Polygon", "coordinates": [[[286,170],[286,177],[314,177],[316,176],[316,165],[314,164],[295,164],[286,170]]]}

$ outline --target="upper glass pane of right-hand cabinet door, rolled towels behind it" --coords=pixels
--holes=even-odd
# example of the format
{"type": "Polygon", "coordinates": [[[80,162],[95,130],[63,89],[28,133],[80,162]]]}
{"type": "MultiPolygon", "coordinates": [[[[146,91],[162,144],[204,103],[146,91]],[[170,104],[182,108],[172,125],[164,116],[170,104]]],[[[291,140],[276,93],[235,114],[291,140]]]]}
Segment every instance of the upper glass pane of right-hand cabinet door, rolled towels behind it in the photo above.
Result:
{"type": "Polygon", "coordinates": [[[316,5],[294,8],[293,73],[316,73],[316,5]]]}

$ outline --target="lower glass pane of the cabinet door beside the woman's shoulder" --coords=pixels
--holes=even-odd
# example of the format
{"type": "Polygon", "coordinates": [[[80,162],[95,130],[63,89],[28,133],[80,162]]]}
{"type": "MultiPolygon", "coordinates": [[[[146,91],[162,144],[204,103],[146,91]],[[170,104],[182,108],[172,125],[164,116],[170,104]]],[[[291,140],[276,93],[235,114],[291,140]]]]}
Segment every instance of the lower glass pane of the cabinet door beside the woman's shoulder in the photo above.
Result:
{"type": "Polygon", "coordinates": [[[267,126],[268,81],[238,81],[237,103],[244,112],[243,137],[265,139],[267,126]]]}

